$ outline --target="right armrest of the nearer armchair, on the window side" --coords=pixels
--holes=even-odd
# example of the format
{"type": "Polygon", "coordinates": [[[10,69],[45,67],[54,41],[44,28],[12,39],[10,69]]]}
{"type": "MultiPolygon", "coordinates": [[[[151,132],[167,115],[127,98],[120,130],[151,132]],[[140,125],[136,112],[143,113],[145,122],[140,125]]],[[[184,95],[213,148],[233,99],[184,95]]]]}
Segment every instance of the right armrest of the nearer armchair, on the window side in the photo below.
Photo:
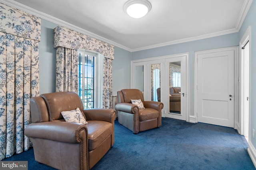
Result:
{"type": "Polygon", "coordinates": [[[114,123],[116,111],[114,109],[84,109],[86,120],[100,120],[114,123]]]}

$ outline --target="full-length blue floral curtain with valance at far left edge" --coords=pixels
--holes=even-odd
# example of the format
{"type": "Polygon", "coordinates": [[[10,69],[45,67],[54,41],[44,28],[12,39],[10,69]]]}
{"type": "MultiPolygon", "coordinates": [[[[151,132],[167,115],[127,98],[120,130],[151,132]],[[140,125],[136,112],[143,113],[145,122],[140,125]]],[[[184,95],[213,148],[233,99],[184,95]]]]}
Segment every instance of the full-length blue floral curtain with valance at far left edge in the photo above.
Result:
{"type": "Polygon", "coordinates": [[[30,98],[39,95],[38,42],[41,19],[0,3],[0,160],[30,141],[30,98]]]}

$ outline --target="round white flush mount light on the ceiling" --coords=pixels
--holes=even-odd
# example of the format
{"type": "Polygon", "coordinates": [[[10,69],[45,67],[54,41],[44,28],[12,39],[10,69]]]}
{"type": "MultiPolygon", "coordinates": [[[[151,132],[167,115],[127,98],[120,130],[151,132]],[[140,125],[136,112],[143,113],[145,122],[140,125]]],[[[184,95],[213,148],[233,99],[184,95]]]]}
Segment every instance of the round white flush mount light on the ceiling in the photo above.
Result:
{"type": "Polygon", "coordinates": [[[124,12],[132,18],[142,18],[151,10],[148,0],[128,0],[124,4],[124,12]]]}

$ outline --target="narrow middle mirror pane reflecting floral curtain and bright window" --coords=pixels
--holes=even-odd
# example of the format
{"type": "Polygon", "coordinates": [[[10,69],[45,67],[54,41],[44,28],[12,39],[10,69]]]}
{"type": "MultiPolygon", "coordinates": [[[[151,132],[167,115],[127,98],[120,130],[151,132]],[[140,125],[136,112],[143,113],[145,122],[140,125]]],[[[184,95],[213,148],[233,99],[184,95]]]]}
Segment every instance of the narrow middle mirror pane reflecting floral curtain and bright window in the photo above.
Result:
{"type": "Polygon", "coordinates": [[[161,64],[151,64],[151,101],[160,102],[160,70],[161,64]]]}

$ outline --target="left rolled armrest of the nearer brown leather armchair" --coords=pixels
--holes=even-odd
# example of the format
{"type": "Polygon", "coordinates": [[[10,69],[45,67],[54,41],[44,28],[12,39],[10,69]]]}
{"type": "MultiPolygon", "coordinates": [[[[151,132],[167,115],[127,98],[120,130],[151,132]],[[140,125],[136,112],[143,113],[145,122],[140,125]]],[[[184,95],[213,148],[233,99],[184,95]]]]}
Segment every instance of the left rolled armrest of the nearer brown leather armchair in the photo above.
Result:
{"type": "Polygon", "coordinates": [[[25,128],[24,134],[31,138],[76,144],[86,140],[88,129],[81,123],[45,121],[31,123],[25,128]]]}

